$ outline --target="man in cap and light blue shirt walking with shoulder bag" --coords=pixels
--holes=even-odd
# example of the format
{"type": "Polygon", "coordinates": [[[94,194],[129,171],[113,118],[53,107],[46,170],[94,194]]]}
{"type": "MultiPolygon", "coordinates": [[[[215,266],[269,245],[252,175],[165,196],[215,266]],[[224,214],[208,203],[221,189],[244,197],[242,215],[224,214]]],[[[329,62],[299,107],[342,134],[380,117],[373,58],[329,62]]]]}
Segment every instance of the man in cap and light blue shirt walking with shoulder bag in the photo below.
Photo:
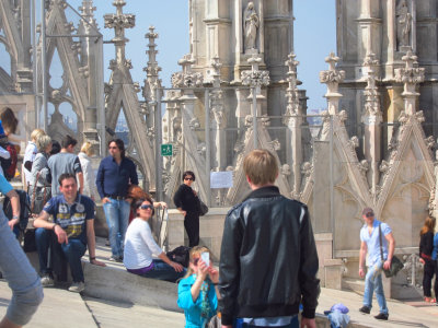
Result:
{"type": "Polygon", "coordinates": [[[372,209],[365,208],[362,218],[365,224],[360,229],[359,276],[362,278],[365,277],[364,265],[367,253],[368,270],[365,278],[364,306],[359,308],[359,311],[362,314],[369,314],[371,312],[372,293],[376,291],[376,298],[379,303],[380,312],[374,318],[378,320],[388,320],[389,314],[383,293],[382,269],[389,269],[391,267],[395,241],[392,236],[391,227],[387,223],[376,220],[372,209]],[[382,253],[380,250],[380,241],[382,241],[382,253]]]}

